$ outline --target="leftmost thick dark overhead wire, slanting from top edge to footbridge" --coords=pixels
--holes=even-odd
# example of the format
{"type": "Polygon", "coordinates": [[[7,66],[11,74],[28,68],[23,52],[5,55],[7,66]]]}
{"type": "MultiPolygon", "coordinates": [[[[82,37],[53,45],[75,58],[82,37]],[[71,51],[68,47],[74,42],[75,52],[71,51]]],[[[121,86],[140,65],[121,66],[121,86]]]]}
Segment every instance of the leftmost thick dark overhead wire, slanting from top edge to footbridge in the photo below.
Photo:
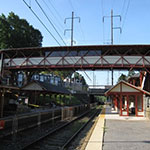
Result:
{"type": "Polygon", "coordinates": [[[37,16],[37,14],[33,11],[33,9],[26,3],[25,0],[23,2],[26,4],[26,6],[31,10],[31,12],[34,14],[34,16],[39,20],[39,22],[44,26],[44,28],[47,30],[47,32],[52,36],[52,38],[56,41],[56,43],[61,46],[61,44],[58,42],[58,40],[54,37],[54,35],[49,31],[49,29],[46,27],[46,25],[42,22],[42,20],[37,16]]]}

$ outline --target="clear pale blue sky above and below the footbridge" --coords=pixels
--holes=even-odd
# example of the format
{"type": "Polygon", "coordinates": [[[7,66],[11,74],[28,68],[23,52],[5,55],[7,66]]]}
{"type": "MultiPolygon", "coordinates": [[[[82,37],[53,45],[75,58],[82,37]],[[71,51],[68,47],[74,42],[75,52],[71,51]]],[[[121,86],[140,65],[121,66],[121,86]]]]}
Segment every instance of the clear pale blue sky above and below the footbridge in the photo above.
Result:
{"type": "MultiPolygon", "coordinates": [[[[110,14],[120,15],[113,18],[114,27],[121,27],[122,34],[114,29],[113,44],[149,44],[150,43],[150,1],[149,0],[37,0],[57,32],[42,13],[36,0],[24,0],[34,13],[40,18],[50,33],[57,39],[54,40],[39,20],[33,15],[23,0],[1,0],[0,14],[8,15],[13,11],[20,18],[26,19],[30,25],[40,30],[43,35],[42,46],[70,45],[71,28],[70,18],[72,11],[77,19],[74,20],[74,45],[103,45],[110,44],[110,14]],[[80,22],[78,17],[80,17],[80,22]],[[104,22],[103,22],[104,17],[104,22]],[[63,40],[62,40],[63,39],[63,40]],[[64,42],[63,42],[64,41],[64,42]]],[[[80,72],[87,83],[92,85],[111,84],[110,71],[80,72]],[[90,77],[88,79],[87,75],[90,77]],[[93,78],[94,77],[94,78],[93,78]]],[[[121,73],[114,71],[114,82],[117,82],[121,73]]]]}

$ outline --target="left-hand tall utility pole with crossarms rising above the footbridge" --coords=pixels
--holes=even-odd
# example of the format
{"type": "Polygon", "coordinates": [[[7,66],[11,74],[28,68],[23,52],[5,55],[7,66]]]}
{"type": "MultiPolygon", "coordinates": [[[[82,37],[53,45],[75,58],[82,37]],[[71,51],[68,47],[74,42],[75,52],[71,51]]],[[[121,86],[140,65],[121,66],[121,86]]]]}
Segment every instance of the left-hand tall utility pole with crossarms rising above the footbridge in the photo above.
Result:
{"type": "Polygon", "coordinates": [[[74,42],[74,40],[73,40],[74,19],[78,19],[78,20],[79,20],[79,23],[80,23],[80,17],[74,17],[74,12],[72,12],[72,17],[70,17],[70,18],[65,18],[65,21],[64,21],[65,24],[66,24],[66,21],[67,21],[68,19],[71,19],[71,29],[66,29],[66,30],[64,31],[64,35],[65,35],[66,31],[71,31],[71,46],[73,46],[73,42],[74,42]]]}

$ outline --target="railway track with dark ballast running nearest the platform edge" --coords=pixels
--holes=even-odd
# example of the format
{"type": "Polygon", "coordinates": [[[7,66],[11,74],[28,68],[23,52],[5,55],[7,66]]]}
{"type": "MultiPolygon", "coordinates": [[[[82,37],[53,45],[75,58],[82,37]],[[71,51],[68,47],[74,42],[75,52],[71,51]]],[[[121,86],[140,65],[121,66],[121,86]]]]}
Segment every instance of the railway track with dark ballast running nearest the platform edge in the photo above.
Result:
{"type": "Polygon", "coordinates": [[[23,150],[64,150],[92,120],[99,110],[94,109],[79,118],[54,129],[34,142],[24,146],[23,150]]]}

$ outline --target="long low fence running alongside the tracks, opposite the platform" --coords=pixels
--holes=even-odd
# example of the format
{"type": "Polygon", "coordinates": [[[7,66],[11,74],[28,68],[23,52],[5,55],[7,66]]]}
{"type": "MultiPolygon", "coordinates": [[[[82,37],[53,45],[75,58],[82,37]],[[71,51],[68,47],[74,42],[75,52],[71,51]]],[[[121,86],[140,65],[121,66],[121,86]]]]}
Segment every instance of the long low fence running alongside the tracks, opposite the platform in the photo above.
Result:
{"type": "Polygon", "coordinates": [[[40,126],[43,123],[54,125],[58,121],[64,121],[77,116],[96,104],[85,104],[73,107],[63,107],[58,109],[43,110],[39,112],[15,115],[13,117],[1,118],[0,137],[15,134],[28,128],[40,126]]]}

